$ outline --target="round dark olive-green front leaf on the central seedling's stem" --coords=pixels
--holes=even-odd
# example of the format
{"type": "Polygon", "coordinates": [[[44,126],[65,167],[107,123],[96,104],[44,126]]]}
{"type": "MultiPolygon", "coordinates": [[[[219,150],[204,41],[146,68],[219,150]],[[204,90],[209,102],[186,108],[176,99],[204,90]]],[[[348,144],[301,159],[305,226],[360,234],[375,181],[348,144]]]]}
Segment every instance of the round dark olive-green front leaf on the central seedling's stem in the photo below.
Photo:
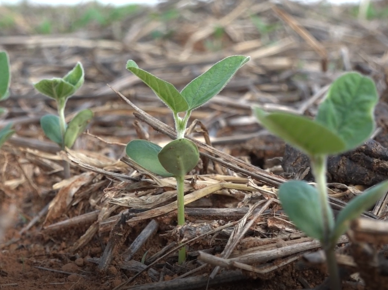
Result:
{"type": "Polygon", "coordinates": [[[177,139],[165,145],[158,154],[160,164],[174,176],[184,176],[198,163],[197,146],[188,139],[177,139]]]}

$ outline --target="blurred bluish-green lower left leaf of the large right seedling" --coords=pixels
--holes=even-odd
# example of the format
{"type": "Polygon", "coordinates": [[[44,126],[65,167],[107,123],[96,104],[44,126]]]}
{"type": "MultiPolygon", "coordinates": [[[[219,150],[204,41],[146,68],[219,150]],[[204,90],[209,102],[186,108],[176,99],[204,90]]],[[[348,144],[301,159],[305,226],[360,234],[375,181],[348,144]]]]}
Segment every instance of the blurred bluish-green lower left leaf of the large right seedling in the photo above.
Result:
{"type": "Polygon", "coordinates": [[[321,206],[315,187],[303,181],[288,181],[279,187],[279,200],[290,220],[300,230],[320,241],[324,239],[321,206]]]}

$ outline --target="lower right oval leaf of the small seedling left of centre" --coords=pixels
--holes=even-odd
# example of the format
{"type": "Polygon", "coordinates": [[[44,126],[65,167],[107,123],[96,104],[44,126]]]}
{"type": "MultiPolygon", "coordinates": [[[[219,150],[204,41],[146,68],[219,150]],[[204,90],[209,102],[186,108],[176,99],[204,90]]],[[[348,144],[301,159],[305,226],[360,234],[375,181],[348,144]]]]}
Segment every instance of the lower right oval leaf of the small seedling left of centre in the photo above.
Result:
{"type": "Polygon", "coordinates": [[[93,112],[89,109],[78,112],[69,122],[65,132],[65,146],[71,148],[80,134],[85,130],[87,124],[93,119],[93,112]]]}

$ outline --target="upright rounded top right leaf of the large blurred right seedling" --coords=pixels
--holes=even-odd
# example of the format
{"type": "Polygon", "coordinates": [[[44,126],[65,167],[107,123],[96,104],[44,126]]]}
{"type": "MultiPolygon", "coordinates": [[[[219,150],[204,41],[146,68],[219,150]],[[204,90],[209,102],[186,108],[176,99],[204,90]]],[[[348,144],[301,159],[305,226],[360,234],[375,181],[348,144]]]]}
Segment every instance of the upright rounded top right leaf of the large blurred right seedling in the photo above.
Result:
{"type": "Polygon", "coordinates": [[[377,101],[372,79],[357,72],[345,73],[330,86],[316,120],[342,138],[346,143],[344,151],[348,151],[371,136],[377,101]]]}

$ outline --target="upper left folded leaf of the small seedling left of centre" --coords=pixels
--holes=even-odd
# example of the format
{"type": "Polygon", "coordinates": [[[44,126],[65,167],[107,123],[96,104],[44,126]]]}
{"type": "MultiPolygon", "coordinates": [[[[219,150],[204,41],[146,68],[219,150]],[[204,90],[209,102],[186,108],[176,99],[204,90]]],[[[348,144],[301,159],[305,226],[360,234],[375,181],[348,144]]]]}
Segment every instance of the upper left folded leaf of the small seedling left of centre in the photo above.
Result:
{"type": "Polygon", "coordinates": [[[69,84],[68,82],[60,79],[53,78],[50,80],[42,80],[34,84],[36,90],[40,93],[48,96],[54,100],[66,99],[76,92],[76,87],[69,84]]]}

